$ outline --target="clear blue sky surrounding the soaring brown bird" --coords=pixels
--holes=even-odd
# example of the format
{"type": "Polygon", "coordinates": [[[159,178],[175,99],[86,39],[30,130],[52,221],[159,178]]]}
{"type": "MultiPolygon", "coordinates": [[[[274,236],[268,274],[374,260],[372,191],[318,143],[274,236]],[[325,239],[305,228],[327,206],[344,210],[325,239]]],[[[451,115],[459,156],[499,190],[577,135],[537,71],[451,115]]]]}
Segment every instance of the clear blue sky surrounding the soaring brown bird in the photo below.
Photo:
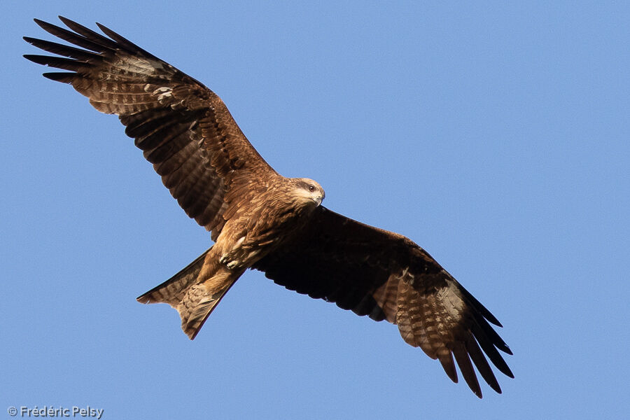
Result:
{"type": "Polygon", "coordinates": [[[630,412],[623,1],[0,6],[0,419],[622,419],[630,412]],[[210,245],[113,116],[22,59],[102,22],[228,104],[281,174],[428,250],[505,328],[478,400],[397,328],[247,272],[194,342],[135,297],[210,245]],[[19,416],[18,416],[19,418],[19,416]]]}

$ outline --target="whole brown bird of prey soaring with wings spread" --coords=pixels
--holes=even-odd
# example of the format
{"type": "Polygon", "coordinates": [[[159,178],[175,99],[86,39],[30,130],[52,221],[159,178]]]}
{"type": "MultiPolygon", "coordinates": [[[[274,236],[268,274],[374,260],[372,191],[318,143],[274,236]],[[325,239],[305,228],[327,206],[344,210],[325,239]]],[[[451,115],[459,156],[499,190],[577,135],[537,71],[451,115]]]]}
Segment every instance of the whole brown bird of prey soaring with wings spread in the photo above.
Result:
{"type": "Polygon", "coordinates": [[[68,29],[35,22],[76,46],[25,37],[60,56],[25,57],[65,70],[43,76],[118,115],[182,209],[214,241],[139,302],[170,304],[194,339],[239,276],[258,269],[297,293],[398,325],[402,339],[440,360],[454,382],[456,363],[479,398],[473,363],[498,393],[486,356],[514,377],[498,350],[512,352],[490,323],[502,325],[423,248],[326,209],[316,181],[278,174],[202,83],[103,25],[97,24],[105,36],[59,19],[68,29]]]}

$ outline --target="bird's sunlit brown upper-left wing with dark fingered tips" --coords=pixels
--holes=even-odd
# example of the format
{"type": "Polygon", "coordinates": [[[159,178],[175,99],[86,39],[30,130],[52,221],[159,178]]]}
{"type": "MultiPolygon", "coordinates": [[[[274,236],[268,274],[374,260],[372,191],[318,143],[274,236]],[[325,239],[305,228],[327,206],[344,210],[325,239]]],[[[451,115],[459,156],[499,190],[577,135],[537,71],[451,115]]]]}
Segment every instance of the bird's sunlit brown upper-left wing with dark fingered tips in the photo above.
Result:
{"type": "Polygon", "coordinates": [[[246,139],[221,98],[127,39],[99,25],[102,36],[69,19],[71,31],[41,20],[50,34],[75,48],[41,39],[25,41],[62,57],[25,55],[68,70],[43,76],[69,83],[103,113],[114,113],[186,214],[216,239],[232,200],[252,177],[275,174],[246,139]]]}

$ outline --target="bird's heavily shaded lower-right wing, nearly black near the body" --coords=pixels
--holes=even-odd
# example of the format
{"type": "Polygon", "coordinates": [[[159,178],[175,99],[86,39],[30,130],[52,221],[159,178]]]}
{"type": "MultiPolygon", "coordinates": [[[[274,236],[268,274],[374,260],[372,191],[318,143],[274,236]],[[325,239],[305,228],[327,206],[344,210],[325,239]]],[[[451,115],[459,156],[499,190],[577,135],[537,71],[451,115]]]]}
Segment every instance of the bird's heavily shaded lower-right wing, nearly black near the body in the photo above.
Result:
{"type": "Polygon", "coordinates": [[[440,360],[454,382],[457,363],[479,398],[472,363],[501,392],[484,353],[514,377],[497,349],[512,352],[489,324],[501,326],[497,319],[406,237],[319,207],[303,235],[253,268],[297,293],[398,324],[405,342],[440,360]]]}

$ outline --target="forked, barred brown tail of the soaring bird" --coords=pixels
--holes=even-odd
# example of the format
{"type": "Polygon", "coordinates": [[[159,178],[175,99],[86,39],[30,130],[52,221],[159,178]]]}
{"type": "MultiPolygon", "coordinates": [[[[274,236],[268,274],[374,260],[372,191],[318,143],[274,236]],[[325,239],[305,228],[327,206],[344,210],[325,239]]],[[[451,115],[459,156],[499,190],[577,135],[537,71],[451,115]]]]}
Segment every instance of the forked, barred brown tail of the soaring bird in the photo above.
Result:
{"type": "Polygon", "coordinates": [[[206,258],[211,249],[160,286],[137,297],[140,303],[164,302],[177,309],[181,329],[190,339],[195,339],[208,316],[242,274],[219,264],[216,258],[206,258]]]}

